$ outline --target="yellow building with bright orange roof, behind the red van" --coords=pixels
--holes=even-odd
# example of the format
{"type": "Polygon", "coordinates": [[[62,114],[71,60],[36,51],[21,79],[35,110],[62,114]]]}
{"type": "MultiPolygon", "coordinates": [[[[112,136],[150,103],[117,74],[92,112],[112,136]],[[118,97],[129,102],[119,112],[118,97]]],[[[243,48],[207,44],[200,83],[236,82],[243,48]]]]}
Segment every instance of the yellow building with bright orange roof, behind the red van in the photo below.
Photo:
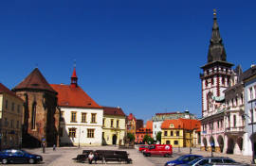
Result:
{"type": "Polygon", "coordinates": [[[173,147],[193,147],[194,140],[197,139],[195,131],[199,127],[198,120],[166,120],[161,126],[161,144],[172,144],[173,147]]]}

